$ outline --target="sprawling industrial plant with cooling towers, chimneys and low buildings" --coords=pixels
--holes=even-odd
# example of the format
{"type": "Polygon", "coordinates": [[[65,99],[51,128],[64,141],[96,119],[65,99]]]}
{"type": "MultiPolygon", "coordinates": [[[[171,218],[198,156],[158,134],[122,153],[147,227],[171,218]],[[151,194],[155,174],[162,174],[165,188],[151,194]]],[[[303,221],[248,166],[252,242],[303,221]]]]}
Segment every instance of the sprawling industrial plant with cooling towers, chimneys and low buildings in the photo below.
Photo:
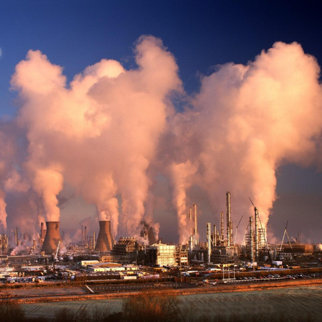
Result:
{"type": "MultiPolygon", "coordinates": [[[[236,243],[237,228],[233,227],[231,215],[231,195],[226,192],[226,216],[220,213],[220,223],[204,223],[206,240],[200,240],[198,228],[197,204],[187,211],[189,240],[185,244],[163,243],[162,238],[155,238],[152,227],[141,221],[138,238],[124,236],[115,240],[111,221],[99,221],[99,232],[89,233],[87,226],[82,226],[82,237],[77,243],[71,243],[60,230],[59,221],[42,222],[38,240],[31,240],[29,235],[18,233],[14,236],[0,234],[0,278],[10,280],[21,275],[21,270],[41,272],[42,276],[51,272],[70,279],[121,279],[145,277],[133,275],[133,270],[149,269],[150,277],[158,277],[164,270],[186,272],[185,276],[198,276],[198,270],[238,272],[263,269],[289,269],[294,267],[322,267],[322,245],[301,244],[300,240],[291,241],[285,227],[280,245],[270,245],[266,237],[258,208],[249,217],[243,241],[236,243]],[[235,229],[235,230],[234,230],[235,229]],[[68,240],[66,242],[65,240],[68,240]],[[30,245],[27,247],[27,244],[30,245]],[[312,264],[313,263],[313,264],[312,264]],[[86,273],[79,273],[77,265],[86,268],[86,273]],[[120,267],[123,267],[122,269],[120,267]],[[131,269],[129,269],[131,267],[131,269]],[[18,270],[18,273],[10,273],[18,270]],[[20,273],[19,273],[20,270],[20,273]],[[192,271],[193,270],[193,271],[192,271]],[[125,272],[124,272],[125,271],[125,272]],[[127,271],[127,272],[126,272],[127,271]],[[190,271],[190,273],[188,273],[190,271]],[[44,272],[46,274],[44,274],[44,272]],[[129,273],[130,272],[130,273],[129,273]],[[128,276],[131,274],[131,277],[128,276]]],[[[200,224],[200,222],[199,222],[200,224]]],[[[203,238],[202,238],[203,239],[203,238]]],[[[35,273],[36,274],[36,273],[35,273]]],[[[182,274],[182,273],[181,273],[182,274]]],[[[233,281],[230,279],[229,281],[233,281]]]]}

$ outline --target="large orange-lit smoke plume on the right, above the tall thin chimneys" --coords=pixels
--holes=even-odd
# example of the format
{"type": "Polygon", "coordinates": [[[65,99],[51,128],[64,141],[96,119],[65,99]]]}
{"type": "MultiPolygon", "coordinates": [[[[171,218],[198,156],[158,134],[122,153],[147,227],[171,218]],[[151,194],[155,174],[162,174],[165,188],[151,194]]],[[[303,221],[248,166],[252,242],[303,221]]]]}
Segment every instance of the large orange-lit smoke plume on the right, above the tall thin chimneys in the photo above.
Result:
{"type": "Polygon", "coordinates": [[[278,167],[315,162],[322,128],[319,71],[299,44],[277,42],[246,66],[228,63],[202,78],[193,109],[182,115],[180,134],[189,142],[186,162],[198,155],[198,169],[187,174],[182,160],[173,167],[179,170],[173,179],[179,222],[184,183],[192,180],[207,192],[218,215],[224,210],[219,199],[231,191],[235,214],[253,214],[251,197],[266,225],[278,167]]]}

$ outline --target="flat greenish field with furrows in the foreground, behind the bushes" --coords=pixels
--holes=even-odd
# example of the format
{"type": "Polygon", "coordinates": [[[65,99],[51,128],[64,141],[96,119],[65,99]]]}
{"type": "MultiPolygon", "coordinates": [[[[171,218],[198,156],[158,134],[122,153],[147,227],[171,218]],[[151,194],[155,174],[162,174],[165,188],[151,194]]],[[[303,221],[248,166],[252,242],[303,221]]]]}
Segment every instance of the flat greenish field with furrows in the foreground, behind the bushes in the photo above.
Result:
{"type": "MultiPolygon", "coordinates": [[[[177,294],[177,298],[179,310],[185,315],[191,314],[191,320],[214,321],[220,317],[218,320],[262,321],[279,317],[277,320],[281,321],[320,321],[322,316],[322,285],[177,294]]],[[[21,305],[28,317],[50,318],[61,308],[67,308],[81,317],[82,312],[93,312],[96,307],[108,308],[111,312],[121,311],[123,301],[124,298],[109,298],[21,305]]]]}

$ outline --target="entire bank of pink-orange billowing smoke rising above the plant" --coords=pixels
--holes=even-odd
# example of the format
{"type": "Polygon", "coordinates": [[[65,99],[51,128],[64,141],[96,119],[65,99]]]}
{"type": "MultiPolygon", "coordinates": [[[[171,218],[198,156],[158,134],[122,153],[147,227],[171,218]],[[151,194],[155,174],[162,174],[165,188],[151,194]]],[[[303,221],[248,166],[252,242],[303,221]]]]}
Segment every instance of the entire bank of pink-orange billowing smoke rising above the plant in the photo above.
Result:
{"type": "Polygon", "coordinates": [[[150,189],[161,173],[169,178],[185,243],[194,186],[206,192],[218,219],[230,191],[233,216],[253,213],[251,197],[266,225],[278,168],[320,161],[320,70],[299,44],[277,42],[247,65],[217,66],[193,97],[184,94],[175,58],[161,40],[141,37],[135,59],[137,68],[130,70],[102,59],[70,84],[40,51],[18,63],[12,86],[21,106],[12,124],[25,133],[28,147],[12,167],[19,145],[10,152],[10,131],[0,133],[1,147],[10,152],[0,150],[4,227],[10,187],[32,191],[30,209],[37,205],[39,218],[58,221],[57,195],[66,184],[96,205],[99,220],[111,220],[114,235],[120,225],[138,236],[143,216],[157,234],[150,189]],[[189,102],[183,112],[172,106],[174,93],[189,102]]]}

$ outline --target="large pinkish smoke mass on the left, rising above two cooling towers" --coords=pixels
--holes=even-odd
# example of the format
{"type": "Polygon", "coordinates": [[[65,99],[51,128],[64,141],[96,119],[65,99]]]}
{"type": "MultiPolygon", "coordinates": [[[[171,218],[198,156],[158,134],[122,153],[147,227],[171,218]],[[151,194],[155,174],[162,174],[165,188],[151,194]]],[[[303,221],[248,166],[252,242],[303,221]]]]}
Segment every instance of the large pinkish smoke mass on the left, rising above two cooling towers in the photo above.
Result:
{"type": "Polygon", "coordinates": [[[151,184],[146,171],[166,129],[170,96],[181,91],[175,59],[162,42],[141,37],[138,67],[103,59],[74,77],[39,51],[16,66],[18,123],[27,132],[24,170],[42,199],[47,221],[59,221],[63,182],[97,206],[116,234],[119,200],[128,233],[137,233],[151,184]]]}

